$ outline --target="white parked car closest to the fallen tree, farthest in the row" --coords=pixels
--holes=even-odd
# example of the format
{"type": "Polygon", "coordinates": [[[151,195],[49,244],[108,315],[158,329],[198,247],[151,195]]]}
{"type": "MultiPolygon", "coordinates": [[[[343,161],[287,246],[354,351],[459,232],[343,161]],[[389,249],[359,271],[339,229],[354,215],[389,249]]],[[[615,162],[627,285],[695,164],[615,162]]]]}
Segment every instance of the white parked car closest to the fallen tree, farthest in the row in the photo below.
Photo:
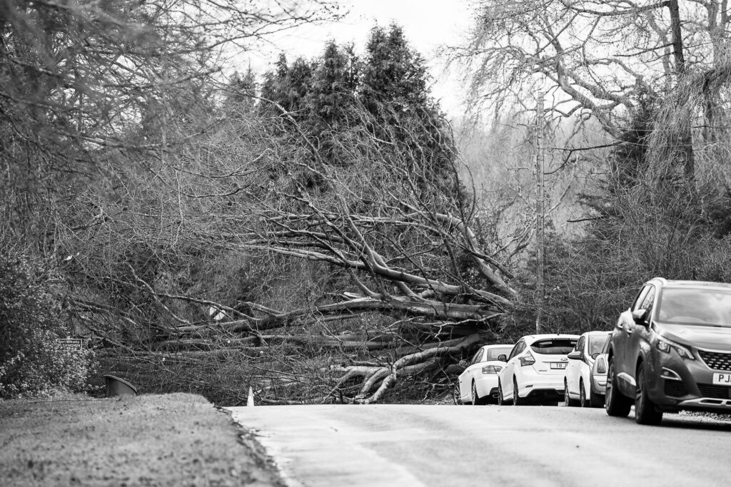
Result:
{"type": "Polygon", "coordinates": [[[497,402],[498,372],[505,365],[512,345],[485,345],[474,353],[469,363],[461,361],[464,372],[454,389],[455,404],[497,402]]]}

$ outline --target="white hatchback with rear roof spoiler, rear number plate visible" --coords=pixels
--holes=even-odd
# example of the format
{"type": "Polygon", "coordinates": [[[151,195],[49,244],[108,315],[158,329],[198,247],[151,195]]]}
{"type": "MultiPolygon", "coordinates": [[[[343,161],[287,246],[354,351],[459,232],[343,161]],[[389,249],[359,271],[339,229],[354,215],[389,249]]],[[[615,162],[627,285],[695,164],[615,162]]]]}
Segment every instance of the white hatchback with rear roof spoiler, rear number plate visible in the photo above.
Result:
{"type": "Polygon", "coordinates": [[[578,335],[537,334],[520,338],[498,374],[498,404],[526,404],[529,400],[558,401],[564,397],[567,355],[578,335]]]}

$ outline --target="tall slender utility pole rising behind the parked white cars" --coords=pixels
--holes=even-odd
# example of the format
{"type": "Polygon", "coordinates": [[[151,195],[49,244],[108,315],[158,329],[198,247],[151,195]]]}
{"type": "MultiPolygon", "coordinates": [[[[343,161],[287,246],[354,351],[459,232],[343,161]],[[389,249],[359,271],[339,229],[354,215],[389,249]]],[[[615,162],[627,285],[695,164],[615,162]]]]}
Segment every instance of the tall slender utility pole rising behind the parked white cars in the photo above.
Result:
{"type": "Polygon", "coordinates": [[[541,332],[543,306],[545,301],[545,187],[543,166],[545,163],[543,148],[543,92],[539,91],[536,101],[536,264],[538,282],[536,283],[538,299],[536,300],[536,334],[541,332]]]}

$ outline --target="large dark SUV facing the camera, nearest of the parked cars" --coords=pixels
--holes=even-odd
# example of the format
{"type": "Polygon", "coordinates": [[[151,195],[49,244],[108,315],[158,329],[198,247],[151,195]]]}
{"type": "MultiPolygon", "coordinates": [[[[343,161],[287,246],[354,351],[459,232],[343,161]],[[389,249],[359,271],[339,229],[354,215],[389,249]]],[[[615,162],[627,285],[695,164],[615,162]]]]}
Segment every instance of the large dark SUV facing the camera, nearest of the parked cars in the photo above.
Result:
{"type": "Polygon", "coordinates": [[[648,281],[619,315],[607,359],[610,416],[632,404],[640,424],[679,410],[731,413],[731,285],[648,281]]]}

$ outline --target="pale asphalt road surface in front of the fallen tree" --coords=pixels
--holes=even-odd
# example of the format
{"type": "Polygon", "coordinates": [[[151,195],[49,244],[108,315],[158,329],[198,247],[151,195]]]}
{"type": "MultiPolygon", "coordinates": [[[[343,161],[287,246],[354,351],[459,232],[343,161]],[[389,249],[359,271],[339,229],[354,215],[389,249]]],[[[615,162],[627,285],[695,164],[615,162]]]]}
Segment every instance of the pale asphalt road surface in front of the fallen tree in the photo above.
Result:
{"type": "Polygon", "coordinates": [[[231,407],[289,486],[728,486],[731,422],[541,406],[231,407]]]}

